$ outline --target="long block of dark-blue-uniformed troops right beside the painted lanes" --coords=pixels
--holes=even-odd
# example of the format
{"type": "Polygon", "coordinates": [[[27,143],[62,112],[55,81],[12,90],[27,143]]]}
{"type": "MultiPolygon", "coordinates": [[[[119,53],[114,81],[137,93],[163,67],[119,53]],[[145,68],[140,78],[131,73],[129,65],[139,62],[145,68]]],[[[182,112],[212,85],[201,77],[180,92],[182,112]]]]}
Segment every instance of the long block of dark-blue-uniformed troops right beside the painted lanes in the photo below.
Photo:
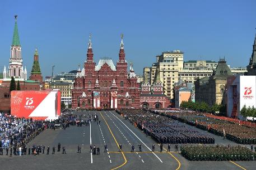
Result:
{"type": "Polygon", "coordinates": [[[118,113],[159,143],[215,143],[211,135],[200,133],[178,121],[141,109],[120,109],[118,113]]]}

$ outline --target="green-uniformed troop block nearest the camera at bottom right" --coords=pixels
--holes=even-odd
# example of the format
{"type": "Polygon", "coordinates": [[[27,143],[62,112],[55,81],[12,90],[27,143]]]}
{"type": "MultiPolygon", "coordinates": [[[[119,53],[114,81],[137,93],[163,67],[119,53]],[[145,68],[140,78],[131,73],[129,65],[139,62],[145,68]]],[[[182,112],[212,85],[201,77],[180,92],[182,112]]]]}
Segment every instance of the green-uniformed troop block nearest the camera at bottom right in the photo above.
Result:
{"type": "Polygon", "coordinates": [[[256,154],[240,145],[230,146],[187,146],[181,149],[181,155],[189,161],[256,161],[256,154]]]}

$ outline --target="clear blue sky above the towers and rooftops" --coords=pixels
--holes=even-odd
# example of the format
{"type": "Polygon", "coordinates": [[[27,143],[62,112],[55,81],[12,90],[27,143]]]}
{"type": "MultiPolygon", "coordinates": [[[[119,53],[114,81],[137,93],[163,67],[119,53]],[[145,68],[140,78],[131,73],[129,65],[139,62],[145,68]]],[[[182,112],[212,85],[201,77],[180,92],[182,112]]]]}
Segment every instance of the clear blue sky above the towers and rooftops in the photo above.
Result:
{"type": "Polygon", "coordinates": [[[0,1],[0,69],[8,66],[18,14],[22,57],[31,71],[38,47],[43,76],[75,70],[86,59],[89,33],[96,63],[116,63],[120,34],[126,59],[137,74],[156,55],[181,50],[184,60],[224,57],[231,67],[245,67],[256,33],[256,1],[0,1]]]}

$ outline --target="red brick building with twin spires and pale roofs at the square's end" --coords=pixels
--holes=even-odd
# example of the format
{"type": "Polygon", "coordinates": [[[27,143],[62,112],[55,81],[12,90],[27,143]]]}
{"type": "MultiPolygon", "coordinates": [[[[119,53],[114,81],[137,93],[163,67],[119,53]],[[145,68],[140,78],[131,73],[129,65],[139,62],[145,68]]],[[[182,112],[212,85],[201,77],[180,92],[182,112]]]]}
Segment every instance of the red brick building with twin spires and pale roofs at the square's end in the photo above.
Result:
{"type": "Polygon", "coordinates": [[[125,60],[123,36],[120,43],[119,60],[115,66],[111,59],[100,59],[96,65],[91,38],[87,49],[87,60],[83,69],[78,69],[72,90],[72,108],[118,109],[118,108],[167,108],[170,100],[164,95],[159,77],[154,85],[145,88],[125,60]],[[143,87],[142,87],[142,86],[143,87]],[[152,91],[152,93],[151,93],[152,91]]]}

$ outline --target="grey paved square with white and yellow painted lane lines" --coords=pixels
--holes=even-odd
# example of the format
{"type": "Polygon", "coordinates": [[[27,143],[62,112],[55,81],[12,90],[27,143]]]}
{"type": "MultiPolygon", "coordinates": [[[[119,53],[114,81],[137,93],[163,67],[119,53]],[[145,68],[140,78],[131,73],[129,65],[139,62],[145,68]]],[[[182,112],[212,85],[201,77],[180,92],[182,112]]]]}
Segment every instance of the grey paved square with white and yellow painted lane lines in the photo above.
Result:
{"type": "MultiPolygon", "coordinates": [[[[50,147],[50,154],[32,154],[25,156],[0,156],[1,169],[255,169],[256,161],[188,161],[175,152],[174,144],[171,152],[160,152],[159,144],[147,137],[140,129],[134,127],[123,116],[115,111],[74,111],[77,116],[97,115],[100,124],[92,121],[89,126],[77,127],[71,125],[66,129],[46,129],[27,144],[50,147]],[[52,147],[58,143],[66,147],[67,154],[55,152],[52,147]],[[108,145],[108,152],[104,152],[104,145],[108,145]],[[122,144],[123,152],[119,152],[122,144]],[[135,151],[131,152],[134,144],[135,151]],[[139,152],[138,145],[142,145],[139,152]],[[152,153],[152,144],[155,152],[152,153]],[[81,153],[77,153],[77,146],[81,145],[81,153]],[[100,154],[93,155],[90,145],[100,148],[100,154]]],[[[187,124],[185,126],[190,127],[187,124]]],[[[203,130],[197,129],[199,132],[203,130]]],[[[208,133],[210,134],[210,133],[208,133]]],[[[215,144],[238,145],[230,140],[211,134],[215,137],[215,144]]],[[[60,150],[61,151],[61,150],[60,150]]],[[[180,144],[179,144],[180,151],[180,144]]]]}

